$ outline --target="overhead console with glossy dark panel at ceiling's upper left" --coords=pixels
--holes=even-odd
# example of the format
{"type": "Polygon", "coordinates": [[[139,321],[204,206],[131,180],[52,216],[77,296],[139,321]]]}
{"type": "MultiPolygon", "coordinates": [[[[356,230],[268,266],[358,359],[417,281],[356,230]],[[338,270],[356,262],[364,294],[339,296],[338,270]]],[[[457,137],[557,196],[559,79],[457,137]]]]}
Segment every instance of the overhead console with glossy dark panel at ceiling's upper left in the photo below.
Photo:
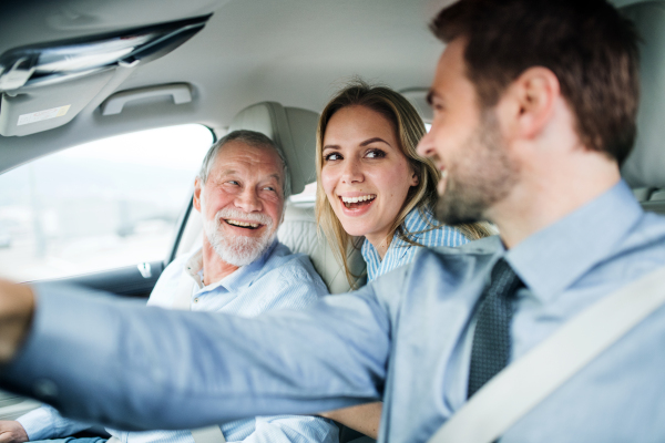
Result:
{"type": "Polygon", "coordinates": [[[137,65],[158,59],[203,29],[208,16],[9,50],[0,55],[0,135],[21,136],[69,123],[99,104],[137,65]]]}

